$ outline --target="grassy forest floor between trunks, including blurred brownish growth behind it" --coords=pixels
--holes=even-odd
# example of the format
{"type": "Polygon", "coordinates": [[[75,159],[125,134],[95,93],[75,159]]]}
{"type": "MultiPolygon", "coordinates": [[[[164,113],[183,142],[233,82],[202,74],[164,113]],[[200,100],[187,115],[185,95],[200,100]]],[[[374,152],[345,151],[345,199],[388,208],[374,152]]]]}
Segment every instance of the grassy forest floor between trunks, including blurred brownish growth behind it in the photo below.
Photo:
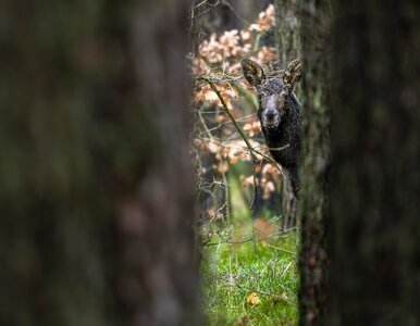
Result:
{"type": "Polygon", "coordinates": [[[297,325],[297,231],[280,231],[279,216],[252,220],[233,205],[232,223],[212,225],[203,248],[206,324],[297,325]]]}

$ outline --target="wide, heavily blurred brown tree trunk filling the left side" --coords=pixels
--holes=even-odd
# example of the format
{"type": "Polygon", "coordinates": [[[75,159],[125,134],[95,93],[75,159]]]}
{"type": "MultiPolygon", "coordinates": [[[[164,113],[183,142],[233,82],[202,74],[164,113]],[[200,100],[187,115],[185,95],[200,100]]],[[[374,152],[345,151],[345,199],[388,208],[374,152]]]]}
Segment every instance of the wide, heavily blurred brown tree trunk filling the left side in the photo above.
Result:
{"type": "Polygon", "coordinates": [[[0,324],[194,325],[188,1],[0,4],[0,324]]]}

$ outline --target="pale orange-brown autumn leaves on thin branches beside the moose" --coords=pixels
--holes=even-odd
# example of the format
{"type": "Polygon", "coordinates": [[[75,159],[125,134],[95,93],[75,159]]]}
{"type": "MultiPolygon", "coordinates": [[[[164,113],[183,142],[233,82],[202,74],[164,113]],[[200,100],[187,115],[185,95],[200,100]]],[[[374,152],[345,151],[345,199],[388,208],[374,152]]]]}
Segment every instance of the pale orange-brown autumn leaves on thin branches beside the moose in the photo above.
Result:
{"type": "MultiPolygon", "coordinates": [[[[269,155],[257,117],[257,99],[254,89],[243,77],[240,59],[250,58],[257,61],[269,76],[280,74],[275,66],[276,50],[270,41],[274,24],[274,7],[269,5],[254,24],[242,30],[211,34],[199,45],[198,53],[192,53],[188,58],[195,80],[192,95],[196,122],[193,151],[196,154],[196,173],[201,181],[199,181],[200,190],[207,185],[205,191],[215,191],[217,183],[213,187],[209,183],[223,179],[225,174],[242,161],[249,162],[249,166],[254,165],[254,168],[248,168],[247,172],[242,168],[238,176],[240,186],[248,193],[249,202],[255,199],[252,198],[255,187],[261,190],[259,193],[262,200],[268,200],[280,191],[282,185],[280,166],[274,166],[258,154],[257,160],[254,160],[245,141],[223,112],[218,95],[201,79],[201,77],[210,79],[217,86],[249,143],[259,152],[269,155]]],[[[207,217],[214,216],[220,205],[220,202],[213,202],[207,208],[207,217]]]]}

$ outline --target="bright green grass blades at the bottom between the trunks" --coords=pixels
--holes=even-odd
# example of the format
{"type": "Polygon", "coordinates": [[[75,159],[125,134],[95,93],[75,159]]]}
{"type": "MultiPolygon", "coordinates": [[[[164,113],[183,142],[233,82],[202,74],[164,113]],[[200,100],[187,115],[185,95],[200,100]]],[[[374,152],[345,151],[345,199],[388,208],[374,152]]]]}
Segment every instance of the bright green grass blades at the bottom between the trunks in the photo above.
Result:
{"type": "Polygon", "coordinates": [[[269,244],[250,241],[206,249],[201,281],[209,325],[240,321],[247,325],[296,325],[296,249],[295,233],[269,244]],[[252,292],[260,299],[256,305],[247,302],[252,292]]]}

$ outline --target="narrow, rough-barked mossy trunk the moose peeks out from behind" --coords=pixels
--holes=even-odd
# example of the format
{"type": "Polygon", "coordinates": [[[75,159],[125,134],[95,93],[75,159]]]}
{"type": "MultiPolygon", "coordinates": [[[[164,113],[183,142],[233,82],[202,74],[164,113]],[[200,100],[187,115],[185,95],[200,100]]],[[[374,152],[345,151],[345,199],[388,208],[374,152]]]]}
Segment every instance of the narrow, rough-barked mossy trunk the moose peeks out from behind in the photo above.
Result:
{"type": "Polygon", "coordinates": [[[330,1],[304,1],[300,325],[323,325],[325,314],[326,174],[330,161],[330,1]]]}

